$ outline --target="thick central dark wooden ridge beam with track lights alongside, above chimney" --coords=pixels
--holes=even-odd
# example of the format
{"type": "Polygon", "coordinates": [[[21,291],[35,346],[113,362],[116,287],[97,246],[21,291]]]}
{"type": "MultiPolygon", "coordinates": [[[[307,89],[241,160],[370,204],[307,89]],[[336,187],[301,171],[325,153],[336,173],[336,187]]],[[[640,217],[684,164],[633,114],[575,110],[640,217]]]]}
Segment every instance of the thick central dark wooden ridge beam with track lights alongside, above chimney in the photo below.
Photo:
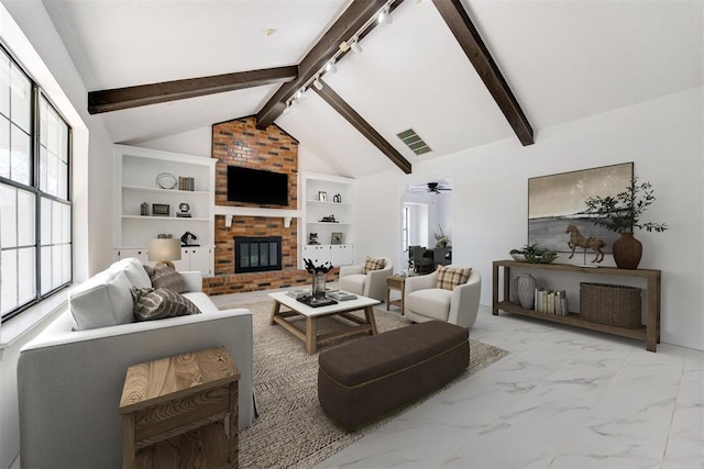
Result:
{"type": "Polygon", "coordinates": [[[256,114],[256,127],[266,129],[282,115],[286,101],[336,55],[343,41],[352,37],[385,3],[386,0],[354,0],[300,62],[298,76],[282,85],[260,110],[256,114]]]}

